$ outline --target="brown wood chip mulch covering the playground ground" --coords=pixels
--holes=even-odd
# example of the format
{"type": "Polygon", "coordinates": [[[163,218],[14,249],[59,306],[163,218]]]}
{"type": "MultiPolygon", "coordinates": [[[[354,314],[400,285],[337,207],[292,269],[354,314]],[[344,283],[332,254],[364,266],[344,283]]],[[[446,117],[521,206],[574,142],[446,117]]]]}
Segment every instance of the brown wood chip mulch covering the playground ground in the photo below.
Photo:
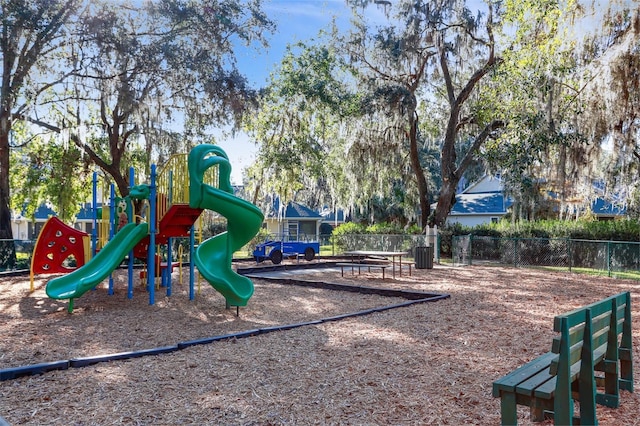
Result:
{"type": "MultiPolygon", "coordinates": [[[[600,425],[640,425],[640,283],[565,272],[473,266],[381,279],[309,270],[296,279],[447,293],[340,321],[227,339],[176,352],[0,382],[10,425],[491,425],[492,382],[551,348],[553,317],[630,290],[634,385],[600,425]]],[[[115,275],[75,302],[47,298],[53,276],[0,278],[0,369],[139,351],[243,330],[294,324],[403,302],[394,297],[254,279],[248,306],[225,309],[208,284],[195,300],[174,272],[154,305],[141,283],[126,297],[115,275]]],[[[188,278],[185,278],[185,280],[188,278]]],[[[520,424],[532,424],[519,407],[520,424]]],[[[542,423],[550,425],[551,421],[542,423]]]]}

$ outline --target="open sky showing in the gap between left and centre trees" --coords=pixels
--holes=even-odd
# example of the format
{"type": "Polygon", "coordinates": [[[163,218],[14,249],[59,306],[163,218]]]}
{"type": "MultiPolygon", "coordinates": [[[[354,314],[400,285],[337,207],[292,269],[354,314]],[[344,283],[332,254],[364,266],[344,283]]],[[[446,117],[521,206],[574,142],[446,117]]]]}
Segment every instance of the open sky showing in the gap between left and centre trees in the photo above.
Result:
{"type": "MultiPolygon", "coordinates": [[[[346,28],[351,17],[345,0],[267,0],[263,9],[277,24],[275,34],[269,37],[270,47],[258,52],[255,48],[236,52],[238,68],[254,87],[267,85],[269,74],[278,68],[287,44],[316,38],[321,29],[330,27],[334,17],[346,28]]],[[[371,19],[382,16],[375,7],[368,8],[366,13],[371,19]]],[[[232,183],[241,184],[242,170],[255,159],[255,144],[245,134],[219,137],[218,144],[231,161],[232,183]]]]}

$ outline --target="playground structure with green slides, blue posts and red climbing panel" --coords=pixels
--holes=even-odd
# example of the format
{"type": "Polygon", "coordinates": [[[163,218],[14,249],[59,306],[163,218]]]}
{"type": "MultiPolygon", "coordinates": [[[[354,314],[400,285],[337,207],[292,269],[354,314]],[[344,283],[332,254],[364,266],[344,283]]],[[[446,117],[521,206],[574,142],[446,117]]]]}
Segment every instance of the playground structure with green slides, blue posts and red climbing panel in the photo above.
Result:
{"type": "MultiPolygon", "coordinates": [[[[60,225],[62,222],[59,220],[54,221],[50,230],[41,234],[36,242],[32,276],[34,273],[71,271],[50,280],[46,285],[46,293],[52,299],[68,299],[68,311],[72,312],[74,300],[110,276],[128,256],[127,297],[133,298],[133,263],[134,258],[140,259],[147,268],[149,304],[154,304],[156,269],[160,267],[156,247],[167,246],[170,271],[171,240],[189,237],[192,260],[190,299],[195,297],[194,268],[197,267],[200,276],[224,296],[227,307],[246,306],[253,295],[253,283],[231,268],[231,260],[233,252],[257,234],[263,214],[253,204],[233,195],[230,174],[231,165],[226,153],[220,147],[208,144],[196,146],[188,155],[173,156],[158,174],[155,165],[152,165],[149,185],[133,185],[131,172],[130,194],[125,198],[125,204],[119,202],[117,212],[112,187],[111,213],[105,215],[110,218],[111,238],[99,250],[95,250],[97,254],[89,259],[87,234],[72,233],[73,228],[60,225]],[[130,208],[133,200],[147,203],[148,217],[134,217],[130,208]],[[196,248],[194,223],[205,209],[224,216],[227,219],[227,231],[200,243],[196,248]],[[84,242],[83,252],[71,244],[71,241],[78,239],[84,242]],[[75,270],[61,266],[71,248],[77,263],[75,270]]],[[[104,218],[102,222],[105,222],[104,218]]],[[[163,283],[166,283],[167,295],[170,296],[171,280],[165,281],[163,276],[163,283]]],[[[113,294],[112,279],[109,280],[109,294],[113,294]]]]}

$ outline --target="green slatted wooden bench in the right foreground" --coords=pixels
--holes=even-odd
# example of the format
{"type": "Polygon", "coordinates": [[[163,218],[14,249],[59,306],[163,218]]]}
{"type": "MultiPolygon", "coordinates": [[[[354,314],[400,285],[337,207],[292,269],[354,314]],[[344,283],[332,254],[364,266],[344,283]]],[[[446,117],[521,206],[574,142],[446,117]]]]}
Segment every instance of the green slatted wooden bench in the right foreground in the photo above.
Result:
{"type": "Polygon", "coordinates": [[[558,315],[553,329],[551,352],[493,382],[503,425],[517,424],[518,404],[530,407],[534,422],[597,425],[596,403],[618,407],[620,389],[633,392],[629,292],[558,315]]]}

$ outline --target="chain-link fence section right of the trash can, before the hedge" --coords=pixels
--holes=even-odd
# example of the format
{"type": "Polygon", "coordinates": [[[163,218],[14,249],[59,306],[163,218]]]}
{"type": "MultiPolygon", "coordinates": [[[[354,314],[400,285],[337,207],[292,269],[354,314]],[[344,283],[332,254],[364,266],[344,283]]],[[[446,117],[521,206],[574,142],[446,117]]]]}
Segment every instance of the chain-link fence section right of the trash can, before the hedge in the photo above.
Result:
{"type": "Polygon", "coordinates": [[[456,266],[549,267],[633,278],[640,269],[640,243],[459,235],[452,239],[452,257],[456,266]]]}

